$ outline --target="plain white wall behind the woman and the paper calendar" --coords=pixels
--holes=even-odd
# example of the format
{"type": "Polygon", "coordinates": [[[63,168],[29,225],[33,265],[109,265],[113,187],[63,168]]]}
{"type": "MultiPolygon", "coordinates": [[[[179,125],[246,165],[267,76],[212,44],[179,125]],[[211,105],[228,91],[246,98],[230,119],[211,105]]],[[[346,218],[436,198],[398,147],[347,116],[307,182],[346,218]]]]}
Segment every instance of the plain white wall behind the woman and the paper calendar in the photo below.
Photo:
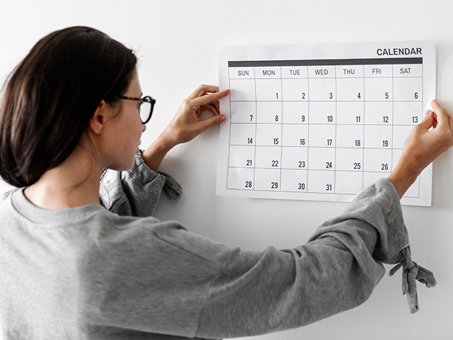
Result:
{"type": "MultiPolygon", "coordinates": [[[[144,94],[156,98],[142,137],[147,147],[199,84],[217,84],[217,45],[435,40],[437,100],[453,111],[453,3],[449,0],[6,1],[0,6],[0,80],[53,30],[93,26],[137,50],[144,94]]],[[[161,169],[183,186],[156,215],[247,249],[306,242],[345,203],[224,198],[214,195],[218,128],[173,149],[161,169]]],[[[438,285],[418,284],[409,314],[401,275],[384,277],[365,305],[302,329],[256,339],[452,339],[453,151],[434,164],[432,207],[403,207],[413,258],[438,285]]],[[[3,189],[3,186],[0,188],[3,189]]],[[[388,268],[387,268],[388,269],[388,268]]]]}

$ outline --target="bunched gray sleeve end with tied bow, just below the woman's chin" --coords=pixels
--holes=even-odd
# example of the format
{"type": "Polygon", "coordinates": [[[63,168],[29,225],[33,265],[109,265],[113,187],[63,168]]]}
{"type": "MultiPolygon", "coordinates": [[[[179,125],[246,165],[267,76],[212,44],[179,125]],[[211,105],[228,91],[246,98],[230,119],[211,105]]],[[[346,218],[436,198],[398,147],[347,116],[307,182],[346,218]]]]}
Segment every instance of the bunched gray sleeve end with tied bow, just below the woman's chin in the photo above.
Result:
{"type": "Polygon", "coordinates": [[[105,208],[118,215],[149,217],[156,210],[162,191],[171,200],[177,200],[182,193],[171,176],[151,170],[141,154],[136,154],[132,169],[106,171],[99,196],[105,208]]]}

